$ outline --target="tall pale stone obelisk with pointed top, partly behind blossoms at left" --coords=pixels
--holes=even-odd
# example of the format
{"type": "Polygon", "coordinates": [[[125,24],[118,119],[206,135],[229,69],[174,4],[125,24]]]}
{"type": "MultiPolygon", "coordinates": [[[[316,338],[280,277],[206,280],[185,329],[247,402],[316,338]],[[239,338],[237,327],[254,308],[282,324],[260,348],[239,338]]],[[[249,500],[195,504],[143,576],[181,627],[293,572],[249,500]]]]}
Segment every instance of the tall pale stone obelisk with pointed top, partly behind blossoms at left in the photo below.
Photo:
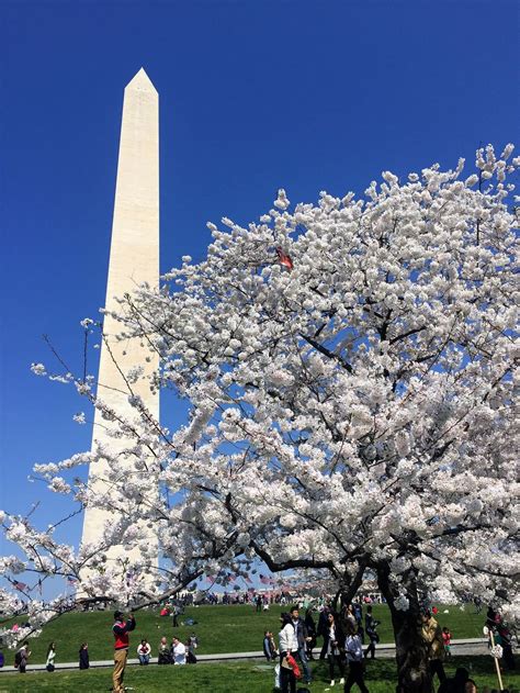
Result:
{"type": "MultiPolygon", "coordinates": [[[[105,310],[121,312],[116,299],[132,293],[143,282],[151,287],[159,283],[159,96],[142,68],[124,94],[105,310]]],[[[121,323],[110,314],[104,316],[106,344],[101,344],[98,396],[117,415],[135,418],[136,412],[128,402],[129,388],[122,373],[126,376],[135,367],[143,367],[143,377],[131,389],[159,421],[159,393],[149,387],[149,378],[159,367],[158,357],[139,339],[117,340],[122,331],[121,323]]],[[[125,481],[138,483],[135,457],[125,452],[132,438],[112,437],[110,431],[114,425],[95,411],[92,449],[101,444],[120,455],[121,463],[121,473],[115,479],[103,459],[90,465],[89,492],[97,495],[110,494],[125,481]]],[[[82,545],[102,539],[105,522],[114,519],[116,513],[87,507],[82,545]]],[[[143,527],[140,532],[145,533],[148,546],[157,547],[157,537],[150,528],[143,527]]],[[[122,554],[116,546],[109,558],[121,562],[122,554]]]]}

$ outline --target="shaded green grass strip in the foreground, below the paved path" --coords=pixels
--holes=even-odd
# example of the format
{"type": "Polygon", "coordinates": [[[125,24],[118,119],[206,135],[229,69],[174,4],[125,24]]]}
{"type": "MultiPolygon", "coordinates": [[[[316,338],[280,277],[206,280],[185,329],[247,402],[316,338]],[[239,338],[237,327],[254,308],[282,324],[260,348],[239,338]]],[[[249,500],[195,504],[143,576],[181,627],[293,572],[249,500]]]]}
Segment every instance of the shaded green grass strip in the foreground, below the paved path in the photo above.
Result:
{"type": "MultiPolygon", "coordinates": [[[[494,664],[490,657],[456,658],[456,664],[446,666],[449,675],[454,673],[455,666],[465,666],[481,686],[496,685],[494,664]]],[[[314,683],[312,691],[321,693],[328,689],[327,668],[323,662],[314,663],[314,683]]],[[[273,667],[267,663],[215,663],[195,664],[194,667],[128,667],[125,685],[136,693],[270,693],[273,688],[273,667]]],[[[520,675],[508,677],[505,682],[510,691],[520,691],[520,675]]],[[[76,672],[54,672],[32,674],[0,675],[0,693],[15,691],[32,693],[49,691],[70,693],[71,691],[109,691],[111,688],[111,670],[102,669],[76,672]]],[[[370,693],[392,693],[395,689],[395,663],[392,660],[374,660],[368,662],[366,684],[370,693]]],[[[341,689],[330,689],[330,691],[341,689]]]]}

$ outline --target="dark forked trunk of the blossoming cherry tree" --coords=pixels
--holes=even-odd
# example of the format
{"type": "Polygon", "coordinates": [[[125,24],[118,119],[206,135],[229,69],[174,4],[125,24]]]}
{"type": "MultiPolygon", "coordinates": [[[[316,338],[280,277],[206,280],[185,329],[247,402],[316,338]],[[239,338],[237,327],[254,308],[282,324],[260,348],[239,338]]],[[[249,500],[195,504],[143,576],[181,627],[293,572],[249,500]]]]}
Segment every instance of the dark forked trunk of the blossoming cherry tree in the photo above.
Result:
{"type": "Polygon", "coordinates": [[[377,570],[377,583],[392,615],[397,662],[396,693],[432,693],[433,685],[428,666],[428,646],[422,639],[422,613],[412,577],[406,581],[408,611],[394,605],[397,593],[388,579],[389,570],[377,570]]]}

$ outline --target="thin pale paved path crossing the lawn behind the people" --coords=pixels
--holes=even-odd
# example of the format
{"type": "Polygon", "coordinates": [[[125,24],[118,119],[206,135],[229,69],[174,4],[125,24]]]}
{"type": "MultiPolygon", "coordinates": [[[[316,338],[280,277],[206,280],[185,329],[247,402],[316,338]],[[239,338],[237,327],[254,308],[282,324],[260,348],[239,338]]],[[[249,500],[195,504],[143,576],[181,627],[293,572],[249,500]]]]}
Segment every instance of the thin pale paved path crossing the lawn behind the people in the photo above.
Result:
{"type": "MultiPolygon", "coordinates": [[[[472,656],[472,655],[486,655],[488,652],[487,648],[487,639],[485,638],[471,638],[467,640],[452,640],[452,652],[456,656],[472,656]]],[[[395,656],[395,645],[393,642],[380,642],[375,646],[376,656],[383,659],[389,659],[395,656]]],[[[316,648],[319,650],[319,648],[316,648]]],[[[5,655],[11,653],[10,650],[5,652],[5,655]]],[[[5,658],[9,662],[9,658],[5,658]]],[[[14,653],[13,653],[14,659],[14,653]]],[[[255,651],[255,652],[225,652],[221,655],[199,655],[199,662],[219,662],[219,661],[240,661],[244,659],[261,659],[263,660],[263,652],[255,651]]],[[[5,666],[0,669],[1,674],[8,673],[18,673],[14,667],[11,663],[5,663],[5,666]]],[[[157,658],[152,658],[151,664],[156,664],[157,658]]],[[[128,664],[138,664],[138,659],[128,659],[128,664]]],[[[102,659],[99,661],[91,661],[90,667],[92,669],[102,668],[102,667],[113,667],[114,662],[111,659],[102,659]]],[[[56,670],[66,670],[66,669],[79,669],[78,662],[56,662],[56,670]]],[[[45,664],[29,664],[29,671],[45,671],[45,664]]]]}

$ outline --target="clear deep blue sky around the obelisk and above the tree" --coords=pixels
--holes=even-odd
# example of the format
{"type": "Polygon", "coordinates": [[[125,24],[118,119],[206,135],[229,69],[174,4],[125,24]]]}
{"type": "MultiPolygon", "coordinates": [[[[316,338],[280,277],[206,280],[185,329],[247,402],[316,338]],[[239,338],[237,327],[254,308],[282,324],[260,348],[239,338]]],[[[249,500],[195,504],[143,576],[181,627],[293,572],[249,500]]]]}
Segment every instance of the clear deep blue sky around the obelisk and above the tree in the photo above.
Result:
{"type": "Polygon", "coordinates": [[[362,192],[385,169],[518,141],[513,0],[11,0],[2,15],[0,507],[42,498],[43,523],[63,503],[26,483],[32,465],[87,449],[91,429],[71,420],[72,391],[29,367],[52,360],[43,333],[81,364],[123,89],[142,66],[160,94],[163,270],[203,256],[206,221],[247,223],[279,187],[293,202],[362,192]]]}

